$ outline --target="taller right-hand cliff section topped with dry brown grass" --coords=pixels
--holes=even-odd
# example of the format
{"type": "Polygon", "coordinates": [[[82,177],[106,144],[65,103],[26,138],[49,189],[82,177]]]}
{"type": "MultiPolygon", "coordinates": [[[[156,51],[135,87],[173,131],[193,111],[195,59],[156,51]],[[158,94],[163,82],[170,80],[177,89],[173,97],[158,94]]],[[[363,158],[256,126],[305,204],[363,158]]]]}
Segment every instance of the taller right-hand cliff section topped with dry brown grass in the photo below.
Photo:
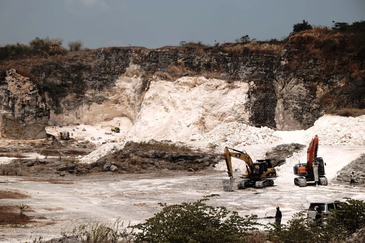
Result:
{"type": "Polygon", "coordinates": [[[289,39],[281,53],[274,69],[275,121],[280,130],[306,129],[328,106],[365,108],[364,76],[346,70],[351,52],[325,55],[319,47],[316,50],[318,54],[309,51],[306,42],[297,38],[289,39]]]}

